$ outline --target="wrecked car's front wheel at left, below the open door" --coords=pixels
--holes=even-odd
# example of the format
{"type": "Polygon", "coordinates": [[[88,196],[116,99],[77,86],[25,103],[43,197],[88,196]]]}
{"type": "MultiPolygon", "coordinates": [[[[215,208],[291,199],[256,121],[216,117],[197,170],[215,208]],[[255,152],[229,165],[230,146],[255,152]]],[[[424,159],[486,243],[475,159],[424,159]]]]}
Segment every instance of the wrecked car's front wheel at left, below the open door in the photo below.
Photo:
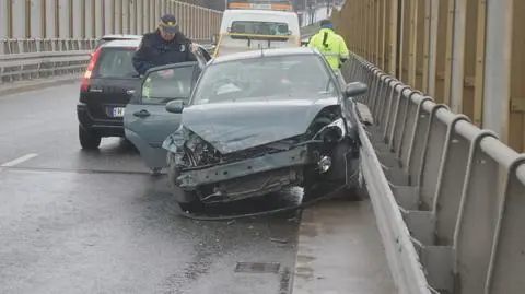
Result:
{"type": "Polygon", "coordinates": [[[167,154],[167,178],[172,188],[173,196],[178,207],[184,212],[194,212],[203,208],[203,203],[197,197],[195,191],[185,191],[178,186],[177,178],[179,170],[175,166],[173,153],[167,154]]]}

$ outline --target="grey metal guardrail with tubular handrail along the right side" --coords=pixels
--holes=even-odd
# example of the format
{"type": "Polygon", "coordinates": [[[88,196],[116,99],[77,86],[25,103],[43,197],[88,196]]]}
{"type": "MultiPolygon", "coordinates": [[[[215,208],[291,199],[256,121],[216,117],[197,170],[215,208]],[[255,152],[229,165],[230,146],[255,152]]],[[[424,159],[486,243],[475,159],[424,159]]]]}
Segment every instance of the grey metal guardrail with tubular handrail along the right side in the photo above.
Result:
{"type": "MultiPolygon", "coordinates": [[[[357,55],[343,74],[370,86],[364,103],[390,188],[383,173],[364,172],[400,293],[523,293],[525,154],[357,55]],[[405,243],[408,232],[413,245],[405,243]]],[[[371,152],[363,157],[372,161],[363,166],[378,165],[371,152]]]]}

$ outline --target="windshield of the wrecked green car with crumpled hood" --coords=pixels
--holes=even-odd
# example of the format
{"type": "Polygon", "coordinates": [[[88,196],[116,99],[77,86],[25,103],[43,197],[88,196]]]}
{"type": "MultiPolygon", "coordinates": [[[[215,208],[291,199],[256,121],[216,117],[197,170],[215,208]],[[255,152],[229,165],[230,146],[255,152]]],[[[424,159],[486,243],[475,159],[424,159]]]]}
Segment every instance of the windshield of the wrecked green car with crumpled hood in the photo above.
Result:
{"type": "Polygon", "coordinates": [[[332,95],[334,81],[323,62],[315,55],[296,55],[211,64],[202,73],[192,104],[332,95]]]}

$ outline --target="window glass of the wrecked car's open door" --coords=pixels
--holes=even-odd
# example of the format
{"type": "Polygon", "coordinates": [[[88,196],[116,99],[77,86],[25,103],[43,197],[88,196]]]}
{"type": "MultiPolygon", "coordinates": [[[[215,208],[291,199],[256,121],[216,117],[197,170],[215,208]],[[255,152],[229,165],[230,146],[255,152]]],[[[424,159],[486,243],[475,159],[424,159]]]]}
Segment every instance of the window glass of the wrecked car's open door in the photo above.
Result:
{"type": "Polygon", "coordinates": [[[142,85],[142,104],[164,105],[173,99],[188,101],[194,67],[150,72],[142,85]]]}

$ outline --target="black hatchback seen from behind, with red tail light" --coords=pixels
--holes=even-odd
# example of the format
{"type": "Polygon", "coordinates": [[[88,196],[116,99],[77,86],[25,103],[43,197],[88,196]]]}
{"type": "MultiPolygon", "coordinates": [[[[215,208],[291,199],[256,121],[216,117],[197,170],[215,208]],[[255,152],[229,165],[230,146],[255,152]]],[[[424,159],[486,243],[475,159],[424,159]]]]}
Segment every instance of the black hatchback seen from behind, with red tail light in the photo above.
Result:
{"type": "MultiPolygon", "coordinates": [[[[132,66],[139,44],[140,38],[112,40],[102,44],[92,55],[77,105],[82,149],[97,149],[105,137],[125,137],[124,110],[140,84],[132,66]]],[[[200,45],[196,56],[201,67],[211,59],[200,45]]]]}

